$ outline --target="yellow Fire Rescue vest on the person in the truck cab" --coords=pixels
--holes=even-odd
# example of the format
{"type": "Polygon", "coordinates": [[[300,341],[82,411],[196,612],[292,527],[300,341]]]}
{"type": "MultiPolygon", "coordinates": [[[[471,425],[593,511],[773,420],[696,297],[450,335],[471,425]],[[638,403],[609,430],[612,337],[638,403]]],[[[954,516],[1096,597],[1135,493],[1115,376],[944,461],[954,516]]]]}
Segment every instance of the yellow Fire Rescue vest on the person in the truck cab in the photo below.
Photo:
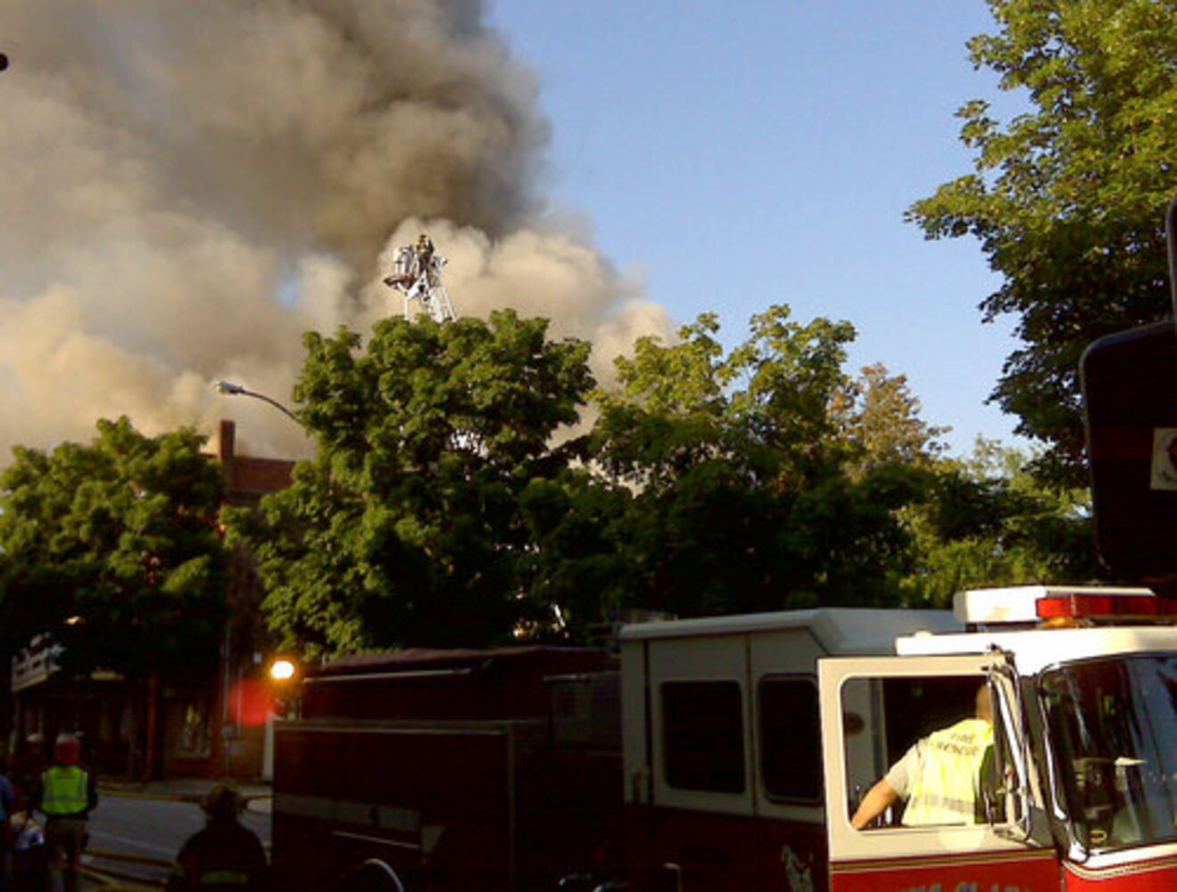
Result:
{"type": "Polygon", "coordinates": [[[931,734],[903,823],[907,826],[972,824],[980,766],[992,743],[993,726],[983,719],[964,719],[931,734]]]}

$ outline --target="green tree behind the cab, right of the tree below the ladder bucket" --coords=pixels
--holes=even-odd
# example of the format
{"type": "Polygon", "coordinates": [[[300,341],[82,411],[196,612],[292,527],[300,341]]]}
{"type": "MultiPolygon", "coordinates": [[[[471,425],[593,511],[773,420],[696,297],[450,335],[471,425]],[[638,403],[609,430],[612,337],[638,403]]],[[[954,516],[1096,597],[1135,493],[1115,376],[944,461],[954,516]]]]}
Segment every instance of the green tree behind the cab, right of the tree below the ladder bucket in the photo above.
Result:
{"type": "Polygon", "coordinates": [[[883,461],[851,473],[867,450],[837,412],[853,328],[777,306],[727,355],[717,333],[703,315],[674,344],[640,340],[598,394],[596,467],[632,493],[616,541],[626,603],[700,615],[886,601],[906,566],[895,511],[917,486],[883,461]]]}

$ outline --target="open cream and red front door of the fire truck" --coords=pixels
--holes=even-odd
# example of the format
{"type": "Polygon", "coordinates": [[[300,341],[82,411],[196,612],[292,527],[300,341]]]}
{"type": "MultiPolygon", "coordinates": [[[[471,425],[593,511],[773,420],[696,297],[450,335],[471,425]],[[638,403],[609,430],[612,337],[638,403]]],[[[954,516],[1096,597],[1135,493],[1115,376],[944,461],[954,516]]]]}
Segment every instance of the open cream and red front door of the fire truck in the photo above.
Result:
{"type": "MultiPolygon", "coordinates": [[[[993,751],[1000,767],[992,773],[1005,775],[1006,792],[1024,791],[1020,714],[1003,664],[998,654],[819,660],[832,892],[1059,887],[1052,846],[1035,843],[1020,826],[1025,800],[1011,807],[1013,797],[1004,797],[993,807],[997,797],[984,792],[977,817],[917,826],[918,818],[905,823],[900,798],[867,827],[851,824],[866,794],[916,741],[972,718],[985,684],[997,688],[993,751]]],[[[902,771],[890,779],[903,787],[902,771]]]]}

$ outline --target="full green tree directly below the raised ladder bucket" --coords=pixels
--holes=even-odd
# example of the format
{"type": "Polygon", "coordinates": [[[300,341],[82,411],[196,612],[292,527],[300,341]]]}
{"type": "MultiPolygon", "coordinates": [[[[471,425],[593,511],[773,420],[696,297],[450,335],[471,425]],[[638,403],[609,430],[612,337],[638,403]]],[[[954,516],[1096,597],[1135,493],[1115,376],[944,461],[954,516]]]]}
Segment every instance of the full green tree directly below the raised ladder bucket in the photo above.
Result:
{"type": "Polygon", "coordinates": [[[588,345],[546,333],[504,311],[386,319],[366,342],[306,335],[294,398],[315,458],[260,511],[226,514],[285,645],[310,657],[478,646],[550,627],[576,580],[538,592],[551,565],[540,546],[578,521],[561,530],[548,506],[583,490],[580,444],[557,438],[593,380],[588,345]]]}

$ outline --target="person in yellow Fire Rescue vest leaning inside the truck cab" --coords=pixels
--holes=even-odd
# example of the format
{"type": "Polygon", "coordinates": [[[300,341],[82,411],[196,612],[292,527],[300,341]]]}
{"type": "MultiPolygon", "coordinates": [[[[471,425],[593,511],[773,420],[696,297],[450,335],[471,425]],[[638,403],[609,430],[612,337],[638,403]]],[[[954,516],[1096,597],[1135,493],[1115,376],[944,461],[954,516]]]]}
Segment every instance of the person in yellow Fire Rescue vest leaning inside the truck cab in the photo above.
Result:
{"type": "Polygon", "coordinates": [[[906,801],[906,827],[976,823],[992,745],[993,701],[982,685],[972,718],[917,740],[867,791],[850,823],[862,830],[897,799],[906,801]]]}

